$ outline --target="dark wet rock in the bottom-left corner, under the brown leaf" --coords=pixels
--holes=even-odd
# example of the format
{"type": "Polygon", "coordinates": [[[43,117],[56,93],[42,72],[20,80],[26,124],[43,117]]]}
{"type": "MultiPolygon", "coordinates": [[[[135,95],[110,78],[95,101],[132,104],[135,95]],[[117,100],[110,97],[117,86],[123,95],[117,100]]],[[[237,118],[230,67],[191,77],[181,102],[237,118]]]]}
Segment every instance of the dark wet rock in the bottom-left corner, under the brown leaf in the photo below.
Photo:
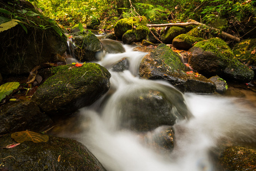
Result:
{"type": "MultiPolygon", "coordinates": [[[[13,143],[10,134],[0,139],[0,146],[13,143]]],[[[50,136],[46,143],[25,141],[12,149],[0,149],[0,157],[5,158],[1,169],[7,170],[105,170],[86,146],[62,137],[50,136]]]]}

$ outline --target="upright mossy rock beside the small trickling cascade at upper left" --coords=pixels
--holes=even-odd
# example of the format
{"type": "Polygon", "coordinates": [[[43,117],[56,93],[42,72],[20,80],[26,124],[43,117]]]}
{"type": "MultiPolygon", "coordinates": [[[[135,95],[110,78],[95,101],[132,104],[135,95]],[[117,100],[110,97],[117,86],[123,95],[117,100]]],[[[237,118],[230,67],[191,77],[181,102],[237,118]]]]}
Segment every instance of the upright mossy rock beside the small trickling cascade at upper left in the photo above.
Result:
{"type": "Polygon", "coordinates": [[[76,32],[72,34],[71,50],[75,54],[75,58],[80,62],[90,62],[98,60],[96,54],[102,51],[100,40],[91,32],[83,31],[83,34],[76,32]]]}

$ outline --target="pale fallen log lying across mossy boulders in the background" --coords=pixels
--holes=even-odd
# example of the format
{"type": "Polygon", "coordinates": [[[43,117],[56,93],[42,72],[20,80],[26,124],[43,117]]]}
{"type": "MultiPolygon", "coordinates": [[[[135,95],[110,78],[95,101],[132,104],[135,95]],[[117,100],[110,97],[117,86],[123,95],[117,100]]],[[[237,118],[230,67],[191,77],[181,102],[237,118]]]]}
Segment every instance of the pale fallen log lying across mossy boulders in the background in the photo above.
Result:
{"type": "MultiPolygon", "coordinates": [[[[205,24],[202,24],[202,23],[197,22],[197,21],[192,21],[192,22],[188,21],[186,23],[166,23],[166,24],[147,25],[147,26],[148,27],[166,27],[166,26],[189,26],[189,25],[206,26],[205,24]]],[[[216,30],[216,31],[220,32],[220,34],[222,36],[224,36],[225,38],[232,39],[232,40],[235,40],[237,42],[240,42],[240,38],[238,38],[237,36],[233,36],[231,34],[228,34],[228,33],[224,32],[224,31],[220,31],[219,29],[214,28],[214,27],[210,27],[210,26],[207,26],[207,27],[209,27],[212,30],[216,30]]]]}

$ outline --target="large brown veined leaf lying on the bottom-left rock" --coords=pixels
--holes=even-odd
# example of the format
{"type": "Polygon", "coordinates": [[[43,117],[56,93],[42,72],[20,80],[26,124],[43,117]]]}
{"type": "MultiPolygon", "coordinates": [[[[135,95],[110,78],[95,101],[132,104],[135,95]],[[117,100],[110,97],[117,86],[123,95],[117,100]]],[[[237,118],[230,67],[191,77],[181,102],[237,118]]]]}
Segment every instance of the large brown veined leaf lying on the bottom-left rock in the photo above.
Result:
{"type": "Polygon", "coordinates": [[[23,143],[24,141],[33,141],[34,143],[47,142],[49,137],[47,135],[42,135],[40,133],[31,131],[21,131],[11,134],[13,138],[18,143],[23,143]]]}

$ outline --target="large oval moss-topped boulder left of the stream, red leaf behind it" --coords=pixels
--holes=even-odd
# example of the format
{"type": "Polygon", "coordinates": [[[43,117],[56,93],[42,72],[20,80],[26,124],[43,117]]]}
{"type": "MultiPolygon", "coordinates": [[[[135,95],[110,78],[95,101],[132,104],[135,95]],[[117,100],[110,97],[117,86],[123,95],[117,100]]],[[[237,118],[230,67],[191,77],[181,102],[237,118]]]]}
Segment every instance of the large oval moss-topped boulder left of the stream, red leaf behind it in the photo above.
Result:
{"type": "Polygon", "coordinates": [[[52,76],[40,86],[31,100],[51,115],[72,113],[94,103],[108,91],[110,74],[104,67],[86,63],[52,68],[52,76]]]}

